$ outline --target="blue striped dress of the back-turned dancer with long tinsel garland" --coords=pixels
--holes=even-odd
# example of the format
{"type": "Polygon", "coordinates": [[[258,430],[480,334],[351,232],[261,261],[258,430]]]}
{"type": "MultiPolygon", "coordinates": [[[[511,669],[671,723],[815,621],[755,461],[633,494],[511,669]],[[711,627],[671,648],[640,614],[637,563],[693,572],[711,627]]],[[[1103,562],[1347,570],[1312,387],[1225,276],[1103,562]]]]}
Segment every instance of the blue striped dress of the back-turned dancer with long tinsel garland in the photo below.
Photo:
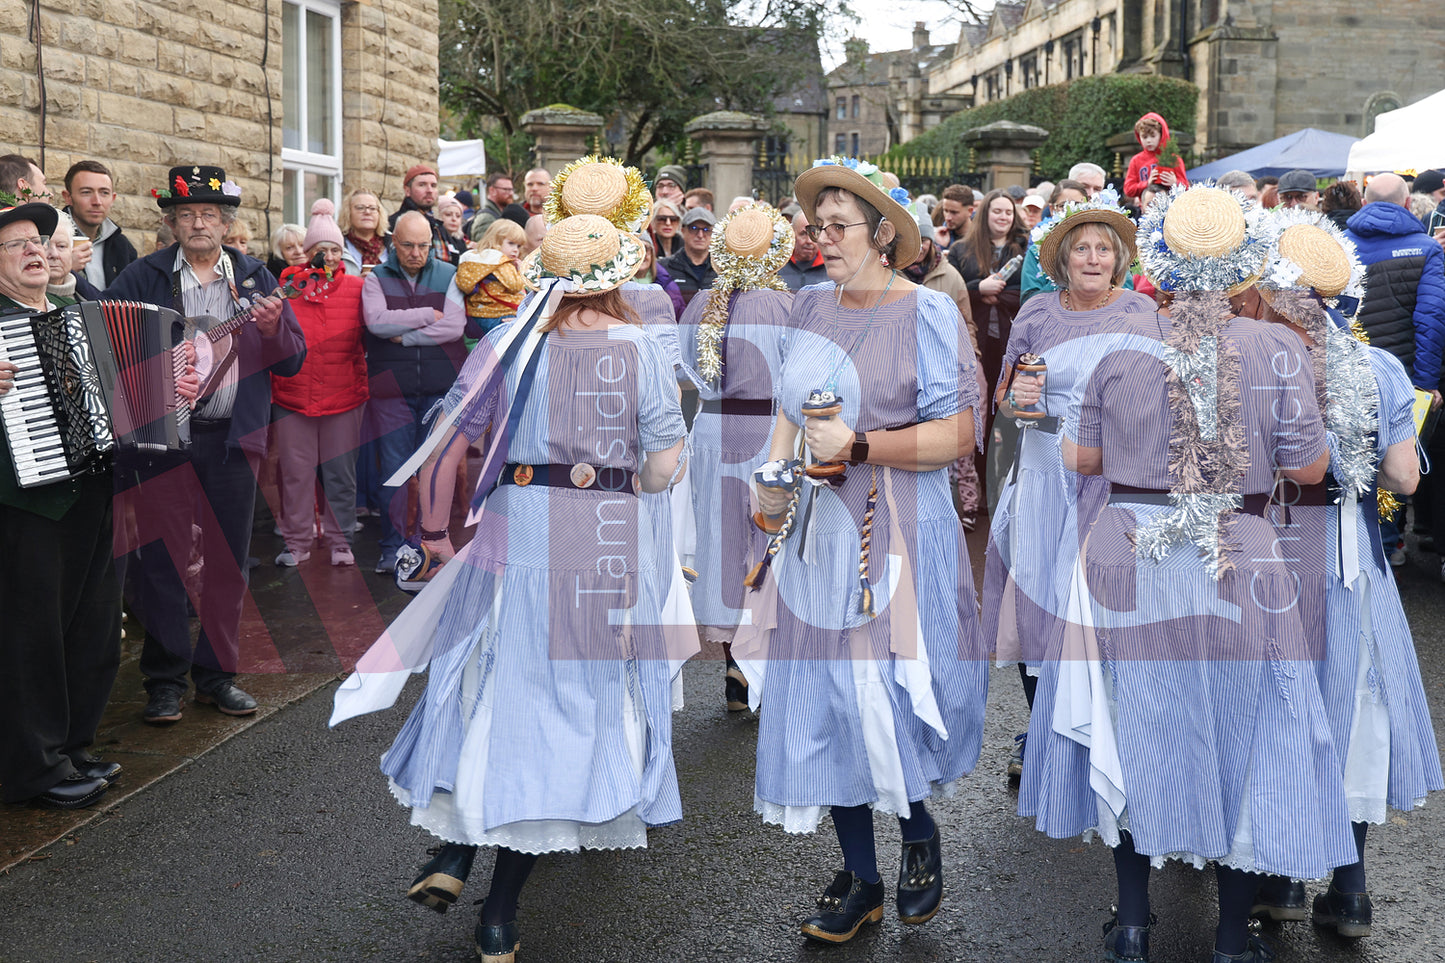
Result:
{"type": "MultiPolygon", "coordinates": [[[[1155,320],[1139,333],[1156,333],[1155,320]]],[[[1257,321],[1231,322],[1221,341],[1240,356],[1243,492],[1269,492],[1276,466],[1312,464],[1325,447],[1309,361],[1298,338],[1257,321]]],[[[1165,372],[1152,353],[1116,351],[1069,419],[1077,444],[1103,448],[1114,486],[1170,487],[1165,372]]],[[[1155,865],[1321,878],[1354,862],[1340,758],[1274,529],[1231,516],[1234,568],[1214,581],[1189,542],[1139,558],[1136,526],[1165,510],[1116,500],[1091,526],[1066,630],[1040,667],[1019,813],[1055,837],[1116,844],[1127,830],[1155,865]]]]}

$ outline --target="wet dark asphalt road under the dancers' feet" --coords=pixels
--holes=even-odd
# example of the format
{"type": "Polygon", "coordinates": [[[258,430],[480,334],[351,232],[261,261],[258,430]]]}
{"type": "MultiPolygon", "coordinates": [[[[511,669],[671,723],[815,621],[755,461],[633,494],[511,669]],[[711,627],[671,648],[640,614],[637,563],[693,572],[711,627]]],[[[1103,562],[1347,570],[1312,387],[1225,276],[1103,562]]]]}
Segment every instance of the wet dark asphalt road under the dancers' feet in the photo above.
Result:
{"type": "MultiPolygon", "coordinates": [[[[1445,742],[1438,565],[1426,555],[1403,570],[1402,586],[1445,742]]],[[[688,707],[675,716],[683,823],[653,831],[647,850],[543,857],[522,898],[523,963],[1098,959],[1113,894],[1108,850],[1035,831],[1014,814],[1001,776],[1025,724],[1013,669],[994,671],[977,772],[933,805],[942,911],[922,927],[886,917],[842,947],[798,936],[840,865],[832,833],[762,826],[751,811],[756,720],[722,710],[718,662],[689,664],[685,680],[688,707]]],[[[490,855],[478,857],[452,912],[407,902],[402,894],[431,840],[406,824],[376,768],[420,681],[392,711],[337,730],[325,724],[328,687],[16,866],[0,878],[0,960],[475,959],[467,904],[486,891],[490,855]]],[[[1445,960],[1442,808],[1435,798],[1371,833],[1374,936],[1351,944],[1308,923],[1272,925],[1280,962],[1445,960]]],[[[880,817],[877,830],[892,892],[897,824],[880,817]]],[[[1156,872],[1153,905],[1156,963],[1208,962],[1212,872],[1156,872]]]]}

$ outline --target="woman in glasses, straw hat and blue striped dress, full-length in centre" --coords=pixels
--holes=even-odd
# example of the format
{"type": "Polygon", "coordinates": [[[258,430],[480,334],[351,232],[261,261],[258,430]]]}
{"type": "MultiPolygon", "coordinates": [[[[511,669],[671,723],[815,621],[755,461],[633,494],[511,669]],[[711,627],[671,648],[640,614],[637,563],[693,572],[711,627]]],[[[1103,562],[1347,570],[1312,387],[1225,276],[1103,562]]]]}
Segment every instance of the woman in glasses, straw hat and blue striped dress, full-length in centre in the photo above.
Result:
{"type": "MultiPolygon", "coordinates": [[[[802,925],[828,943],[883,918],[874,810],[902,829],[899,918],[938,911],[939,831],[923,800],[977,762],[988,685],[948,486],[948,466],[977,445],[972,348],[951,298],[896,273],[918,256],[918,223],[906,194],[880,184],[873,165],[838,159],[795,184],[831,282],[793,301],[770,455],[802,442],[850,464],[841,482],[798,489],[734,642],[762,713],[757,811],[793,833],[827,811],[838,833],[842,870],[802,925]],[[815,395],[841,409],[809,414],[815,395]]],[[[792,496],[757,497],[780,515],[792,496]]]]}

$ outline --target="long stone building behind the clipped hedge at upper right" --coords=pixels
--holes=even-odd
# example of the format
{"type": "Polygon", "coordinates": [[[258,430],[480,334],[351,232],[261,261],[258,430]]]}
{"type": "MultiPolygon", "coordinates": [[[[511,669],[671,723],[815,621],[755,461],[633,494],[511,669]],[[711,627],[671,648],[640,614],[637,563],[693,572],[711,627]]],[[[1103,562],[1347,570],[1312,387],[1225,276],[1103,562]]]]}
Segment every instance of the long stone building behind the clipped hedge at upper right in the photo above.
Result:
{"type": "Polygon", "coordinates": [[[1445,3],[1026,0],[959,32],[929,90],[970,106],[1075,77],[1199,87],[1196,149],[1222,156],[1300,127],[1361,137],[1445,82],[1445,3]]]}

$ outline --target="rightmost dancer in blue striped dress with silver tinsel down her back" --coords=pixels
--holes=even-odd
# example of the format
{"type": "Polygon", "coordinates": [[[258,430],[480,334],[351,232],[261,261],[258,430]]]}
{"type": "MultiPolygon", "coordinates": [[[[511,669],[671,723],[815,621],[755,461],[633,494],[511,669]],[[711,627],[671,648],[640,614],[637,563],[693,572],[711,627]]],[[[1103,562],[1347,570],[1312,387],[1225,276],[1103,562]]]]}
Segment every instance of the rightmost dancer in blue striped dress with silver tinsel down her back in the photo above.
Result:
{"type": "MultiPolygon", "coordinates": [[[[1390,807],[1423,805],[1426,794],[1442,788],[1410,626],[1380,549],[1374,496],[1377,487],[1410,495],[1419,483],[1415,392],[1394,356],[1334,324],[1321,302],[1360,296],[1364,270],[1348,237],[1303,208],[1276,211],[1269,230],[1270,262],[1259,283],[1266,320],[1308,347],[1334,437],[1327,483],[1302,492],[1287,515],[1274,513],[1280,534],[1296,547],[1290,557],[1306,587],[1302,594],[1322,594],[1325,602],[1315,668],[1344,765],[1358,856],[1335,869],[1328,889],[1315,896],[1314,915],[1341,936],[1363,937],[1374,915],[1364,873],[1370,824],[1383,824],[1390,807]]],[[[1256,912],[1303,920],[1303,883],[1269,881],[1256,912]]]]}

